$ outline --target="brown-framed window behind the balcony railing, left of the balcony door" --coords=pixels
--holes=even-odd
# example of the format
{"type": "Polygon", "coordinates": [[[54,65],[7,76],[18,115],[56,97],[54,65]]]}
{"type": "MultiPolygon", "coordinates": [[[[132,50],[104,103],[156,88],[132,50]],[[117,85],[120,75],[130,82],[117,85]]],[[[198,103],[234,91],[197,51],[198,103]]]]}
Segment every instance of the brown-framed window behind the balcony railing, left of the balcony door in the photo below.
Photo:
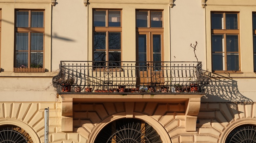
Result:
{"type": "Polygon", "coordinates": [[[112,61],[113,66],[120,66],[121,61],[121,10],[93,10],[94,64],[105,66],[112,61]]]}

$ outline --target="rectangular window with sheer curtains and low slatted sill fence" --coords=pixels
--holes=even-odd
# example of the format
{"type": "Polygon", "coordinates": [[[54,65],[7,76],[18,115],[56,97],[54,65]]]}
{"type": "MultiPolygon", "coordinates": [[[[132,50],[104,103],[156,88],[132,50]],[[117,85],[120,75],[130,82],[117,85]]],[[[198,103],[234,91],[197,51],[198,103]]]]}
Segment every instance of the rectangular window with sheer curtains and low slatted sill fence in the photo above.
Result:
{"type": "Polygon", "coordinates": [[[44,72],[44,10],[15,11],[14,72],[44,72]]]}

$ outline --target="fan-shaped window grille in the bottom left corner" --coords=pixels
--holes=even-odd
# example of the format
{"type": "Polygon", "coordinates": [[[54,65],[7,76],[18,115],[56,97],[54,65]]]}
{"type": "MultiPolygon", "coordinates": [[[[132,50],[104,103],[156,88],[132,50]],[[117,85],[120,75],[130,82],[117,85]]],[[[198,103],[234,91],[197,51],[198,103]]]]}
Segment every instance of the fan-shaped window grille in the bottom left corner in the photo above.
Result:
{"type": "Polygon", "coordinates": [[[20,127],[0,126],[0,143],[33,143],[30,135],[20,127]]]}

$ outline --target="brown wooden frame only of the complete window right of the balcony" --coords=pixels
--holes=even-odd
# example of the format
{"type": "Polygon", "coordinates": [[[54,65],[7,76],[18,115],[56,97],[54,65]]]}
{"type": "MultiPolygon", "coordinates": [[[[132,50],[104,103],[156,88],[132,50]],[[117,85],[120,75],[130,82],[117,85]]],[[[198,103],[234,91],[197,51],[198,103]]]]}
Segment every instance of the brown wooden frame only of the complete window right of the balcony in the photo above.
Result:
{"type": "MultiPolygon", "coordinates": [[[[239,18],[239,12],[229,12],[229,11],[212,11],[212,13],[220,13],[223,14],[223,29],[211,29],[211,43],[212,43],[212,35],[223,35],[223,49],[224,51],[222,52],[212,52],[212,48],[211,48],[211,57],[214,53],[216,54],[220,54],[220,53],[224,53],[224,61],[223,61],[223,70],[212,70],[212,72],[216,72],[216,73],[240,73],[241,72],[241,47],[240,47],[240,18],[239,18]],[[225,15],[226,14],[237,14],[237,29],[226,29],[226,18],[225,15]],[[238,35],[238,52],[227,52],[226,49],[226,35],[238,35]],[[238,59],[239,59],[239,70],[227,70],[227,54],[238,54],[238,59]]],[[[211,17],[211,21],[212,21],[212,17],[211,17]]],[[[212,25],[211,25],[212,27],[212,25]]],[[[211,45],[212,46],[212,45],[211,45]]],[[[213,66],[213,59],[212,61],[212,66],[213,66]]],[[[241,72],[242,73],[242,72],[241,72]]]]}

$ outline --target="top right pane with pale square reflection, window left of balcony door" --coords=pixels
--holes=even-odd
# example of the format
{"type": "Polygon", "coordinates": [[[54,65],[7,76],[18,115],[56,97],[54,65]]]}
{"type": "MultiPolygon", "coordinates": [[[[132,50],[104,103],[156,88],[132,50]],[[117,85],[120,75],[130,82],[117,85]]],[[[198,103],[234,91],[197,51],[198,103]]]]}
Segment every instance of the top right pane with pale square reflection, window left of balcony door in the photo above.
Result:
{"type": "Polygon", "coordinates": [[[121,11],[109,11],[108,12],[108,26],[120,27],[121,26],[121,11]]]}

